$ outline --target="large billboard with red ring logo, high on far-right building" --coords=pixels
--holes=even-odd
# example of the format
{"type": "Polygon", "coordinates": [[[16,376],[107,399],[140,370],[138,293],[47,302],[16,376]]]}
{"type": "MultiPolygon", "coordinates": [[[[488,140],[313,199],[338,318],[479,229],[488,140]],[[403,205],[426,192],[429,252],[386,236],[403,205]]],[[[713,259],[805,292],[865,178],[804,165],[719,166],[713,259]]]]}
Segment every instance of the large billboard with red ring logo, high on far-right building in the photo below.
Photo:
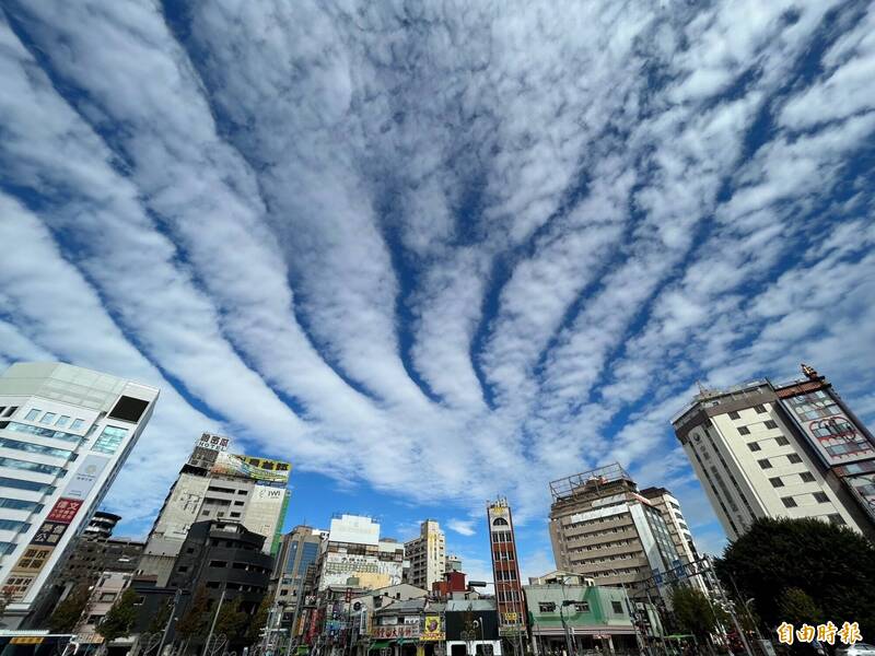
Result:
{"type": "Polygon", "coordinates": [[[875,444],[849,419],[828,388],[781,399],[828,467],[875,457],[875,444]]]}

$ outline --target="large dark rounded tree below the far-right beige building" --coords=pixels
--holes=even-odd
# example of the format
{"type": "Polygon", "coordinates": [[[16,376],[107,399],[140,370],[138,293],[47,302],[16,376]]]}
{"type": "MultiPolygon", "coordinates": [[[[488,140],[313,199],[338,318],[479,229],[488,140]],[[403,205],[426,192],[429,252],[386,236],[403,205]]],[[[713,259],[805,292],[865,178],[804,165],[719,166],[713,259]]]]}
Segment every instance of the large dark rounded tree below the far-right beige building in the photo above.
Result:
{"type": "MultiPolygon", "coordinates": [[[[814,613],[833,622],[858,621],[875,633],[875,546],[843,526],[819,519],[757,519],[716,562],[726,589],[754,597],[763,621],[777,626],[783,613],[814,613]],[[813,605],[807,605],[796,588],[813,605]]],[[[802,619],[802,618],[800,618],[802,619]]]]}

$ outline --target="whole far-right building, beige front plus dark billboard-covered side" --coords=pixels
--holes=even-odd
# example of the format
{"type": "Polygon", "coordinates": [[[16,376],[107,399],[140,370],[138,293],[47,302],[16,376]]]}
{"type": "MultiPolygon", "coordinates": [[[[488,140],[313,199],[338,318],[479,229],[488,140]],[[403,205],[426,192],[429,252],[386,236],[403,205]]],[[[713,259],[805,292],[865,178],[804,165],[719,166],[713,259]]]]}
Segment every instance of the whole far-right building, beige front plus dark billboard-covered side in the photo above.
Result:
{"type": "Polygon", "coordinates": [[[730,539],[758,517],[816,517],[875,537],[875,441],[814,370],[702,390],[672,424],[730,539]]]}

